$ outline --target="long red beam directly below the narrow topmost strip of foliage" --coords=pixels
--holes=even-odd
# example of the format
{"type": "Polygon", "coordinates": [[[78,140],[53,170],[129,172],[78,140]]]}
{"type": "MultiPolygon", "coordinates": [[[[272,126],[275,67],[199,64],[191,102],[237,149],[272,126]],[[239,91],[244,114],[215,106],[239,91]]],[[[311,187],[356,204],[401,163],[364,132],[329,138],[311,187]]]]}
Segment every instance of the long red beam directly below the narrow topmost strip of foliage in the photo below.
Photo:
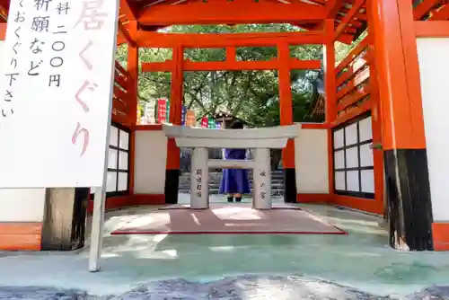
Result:
{"type": "Polygon", "coordinates": [[[323,31],[255,32],[255,33],[160,33],[137,31],[136,44],[143,48],[226,48],[276,47],[289,45],[320,45],[326,42],[323,31]]]}

